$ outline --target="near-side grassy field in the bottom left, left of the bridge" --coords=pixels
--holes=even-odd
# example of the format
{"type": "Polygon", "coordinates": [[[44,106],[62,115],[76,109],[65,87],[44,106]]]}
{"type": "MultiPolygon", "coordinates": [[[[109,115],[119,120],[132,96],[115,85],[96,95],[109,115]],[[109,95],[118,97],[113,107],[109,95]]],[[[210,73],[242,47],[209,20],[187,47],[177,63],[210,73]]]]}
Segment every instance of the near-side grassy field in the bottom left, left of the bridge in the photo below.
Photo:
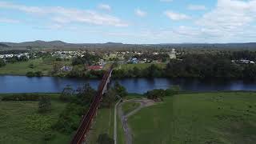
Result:
{"type": "MultiPolygon", "coordinates": [[[[0,94],[4,95],[6,94],[0,94]]],[[[0,101],[0,143],[46,143],[43,139],[46,132],[56,135],[47,143],[70,142],[70,135],[59,134],[51,129],[51,125],[58,120],[58,114],[66,106],[65,103],[54,100],[57,94],[51,95],[52,110],[46,114],[38,114],[38,102],[0,101]]]]}

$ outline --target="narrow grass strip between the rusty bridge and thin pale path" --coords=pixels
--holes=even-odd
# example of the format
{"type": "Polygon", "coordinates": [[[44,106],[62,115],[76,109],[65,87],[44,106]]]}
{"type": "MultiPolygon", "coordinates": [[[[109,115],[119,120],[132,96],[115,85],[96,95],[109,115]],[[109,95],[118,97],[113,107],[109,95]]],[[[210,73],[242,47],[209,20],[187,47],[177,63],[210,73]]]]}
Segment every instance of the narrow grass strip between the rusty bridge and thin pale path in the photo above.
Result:
{"type": "Polygon", "coordinates": [[[98,109],[98,114],[92,124],[92,130],[87,138],[88,144],[97,143],[99,134],[108,134],[110,138],[114,136],[114,108],[98,109]]]}

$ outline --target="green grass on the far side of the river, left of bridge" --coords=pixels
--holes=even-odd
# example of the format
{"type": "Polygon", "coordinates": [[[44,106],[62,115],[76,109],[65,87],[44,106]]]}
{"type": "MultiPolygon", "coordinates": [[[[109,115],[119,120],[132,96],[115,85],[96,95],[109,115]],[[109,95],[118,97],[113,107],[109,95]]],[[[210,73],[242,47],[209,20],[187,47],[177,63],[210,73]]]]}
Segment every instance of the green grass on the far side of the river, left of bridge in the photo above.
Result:
{"type": "MultiPolygon", "coordinates": [[[[70,64],[69,61],[62,62],[63,64],[70,64]]],[[[44,62],[42,58],[32,59],[27,62],[14,62],[7,63],[6,66],[0,68],[0,74],[4,75],[26,75],[27,72],[41,71],[43,75],[50,75],[53,69],[52,62],[44,62]],[[30,64],[34,65],[34,68],[30,68],[30,64]]]]}

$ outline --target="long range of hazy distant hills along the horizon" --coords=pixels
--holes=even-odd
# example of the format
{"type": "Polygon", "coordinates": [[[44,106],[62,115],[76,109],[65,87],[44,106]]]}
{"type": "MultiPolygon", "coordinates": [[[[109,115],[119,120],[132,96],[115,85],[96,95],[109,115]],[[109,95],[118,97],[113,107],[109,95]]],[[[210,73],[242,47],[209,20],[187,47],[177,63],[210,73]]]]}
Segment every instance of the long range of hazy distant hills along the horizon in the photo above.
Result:
{"type": "Polygon", "coordinates": [[[0,42],[0,50],[24,49],[139,49],[139,48],[210,48],[210,49],[254,49],[256,42],[249,43],[163,43],[163,44],[123,44],[107,43],[67,43],[62,41],[34,41],[34,42],[0,42]]]}

